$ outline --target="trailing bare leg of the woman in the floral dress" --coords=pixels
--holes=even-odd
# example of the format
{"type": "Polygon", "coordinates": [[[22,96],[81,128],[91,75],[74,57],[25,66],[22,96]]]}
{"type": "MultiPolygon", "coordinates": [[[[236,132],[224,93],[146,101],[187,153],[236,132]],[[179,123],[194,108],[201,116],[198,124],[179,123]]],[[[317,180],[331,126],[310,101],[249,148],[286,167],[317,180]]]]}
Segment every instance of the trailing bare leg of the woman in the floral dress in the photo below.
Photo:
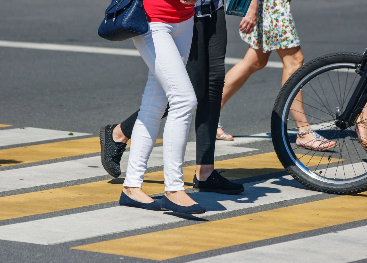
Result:
{"type": "MultiPolygon", "coordinates": [[[[261,49],[253,49],[250,47],[247,50],[244,58],[228,71],[224,80],[225,83],[223,88],[221,110],[228,102],[230,97],[232,97],[237,90],[243,86],[252,73],[261,70],[266,66],[270,53],[271,52],[262,53],[261,49]]],[[[218,128],[217,136],[221,136],[222,134],[223,129],[218,128]]],[[[233,136],[227,135],[226,138],[230,139],[233,138],[233,136]]]]}

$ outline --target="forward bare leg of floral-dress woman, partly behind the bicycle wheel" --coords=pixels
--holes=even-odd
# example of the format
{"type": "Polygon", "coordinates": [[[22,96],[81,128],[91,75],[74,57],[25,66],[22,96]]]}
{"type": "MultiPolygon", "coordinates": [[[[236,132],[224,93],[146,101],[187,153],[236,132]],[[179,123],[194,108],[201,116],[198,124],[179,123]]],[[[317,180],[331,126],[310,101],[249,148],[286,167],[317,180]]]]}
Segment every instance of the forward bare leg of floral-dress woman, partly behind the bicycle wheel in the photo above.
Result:
{"type": "MultiPolygon", "coordinates": [[[[287,79],[300,68],[303,64],[304,57],[302,55],[301,47],[293,47],[291,49],[277,49],[277,53],[280,59],[283,62],[283,76],[282,76],[282,86],[286,83],[287,79]]],[[[299,132],[306,131],[310,129],[310,125],[307,121],[305,110],[303,107],[303,99],[302,92],[298,92],[295,96],[295,100],[291,105],[291,114],[293,119],[295,120],[295,124],[297,125],[297,129],[299,132]]],[[[300,136],[299,138],[302,143],[306,143],[312,141],[313,136],[312,133],[305,134],[300,136]]],[[[313,145],[313,149],[317,149],[319,145],[321,145],[321,141],[316,141],[313,145]]],[[[326,143],[324,148],[331,147],[335,145],[336,142],[331,141],[330,143],[326,143]]]]}

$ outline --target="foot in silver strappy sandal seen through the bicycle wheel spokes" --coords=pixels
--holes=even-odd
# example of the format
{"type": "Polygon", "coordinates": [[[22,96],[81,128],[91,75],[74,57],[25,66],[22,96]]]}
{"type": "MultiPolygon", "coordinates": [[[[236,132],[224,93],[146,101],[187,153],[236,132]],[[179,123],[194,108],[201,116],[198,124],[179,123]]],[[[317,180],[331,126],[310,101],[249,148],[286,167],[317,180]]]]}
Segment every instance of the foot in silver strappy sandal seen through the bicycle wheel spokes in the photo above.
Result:
{"type": "Polygon", "coordinates": [[[313,129],[308,129],[306,131],[297,132],[296,145],[303,149],[325,151],[334,148],[337,146],[337,143],[325,139],[313,129]]]}

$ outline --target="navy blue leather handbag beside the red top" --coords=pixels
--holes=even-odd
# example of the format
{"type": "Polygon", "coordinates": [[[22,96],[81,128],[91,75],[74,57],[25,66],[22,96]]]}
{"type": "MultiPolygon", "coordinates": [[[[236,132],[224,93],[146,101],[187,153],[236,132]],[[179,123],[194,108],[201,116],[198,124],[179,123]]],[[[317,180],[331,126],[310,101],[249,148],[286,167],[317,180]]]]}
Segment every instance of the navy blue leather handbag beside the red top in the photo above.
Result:
{"type": "Polygon", "coordinates": [[[121,41],[148,32],[142,0],[112,0],[98,28],[101,38],[121,41]]]}

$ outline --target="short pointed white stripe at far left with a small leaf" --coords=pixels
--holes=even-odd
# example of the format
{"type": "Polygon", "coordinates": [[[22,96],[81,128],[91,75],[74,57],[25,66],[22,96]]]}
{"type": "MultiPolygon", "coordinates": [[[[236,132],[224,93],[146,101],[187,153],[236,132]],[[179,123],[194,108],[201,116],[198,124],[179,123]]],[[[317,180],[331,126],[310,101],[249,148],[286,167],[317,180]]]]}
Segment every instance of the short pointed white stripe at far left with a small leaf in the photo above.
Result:
{"type": "Polygon", "coordinates": [[[69,135],[68,131],[57,131],[40,128],[18,128],[0,131],[0,146],[13,145],[18,143],[40,142],[62,138],[73,138],[76,136],[90,135],[88,133],[73,132],[69,135]]]}

